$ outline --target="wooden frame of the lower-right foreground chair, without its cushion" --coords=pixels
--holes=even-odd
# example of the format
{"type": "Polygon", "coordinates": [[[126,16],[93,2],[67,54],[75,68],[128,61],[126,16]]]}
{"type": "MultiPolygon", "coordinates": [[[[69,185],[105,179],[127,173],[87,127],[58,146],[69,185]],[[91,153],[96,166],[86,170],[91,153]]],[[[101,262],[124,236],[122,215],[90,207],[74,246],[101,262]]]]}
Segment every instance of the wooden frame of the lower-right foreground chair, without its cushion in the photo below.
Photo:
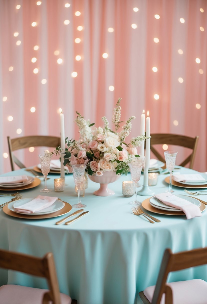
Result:
{"type": "Polygon", "coordinates": [[[139,292],[141,300],[144,304],[159,304],[163,293],[165,293],[165,304],[172,304],[172,290],[169,285],[166,285],[169,272],[205,264],[207,264],[207,247],[175,254],[170,249],[166,249],[162,258],[152,302],[148,301],[143,291],[139,292]]]}

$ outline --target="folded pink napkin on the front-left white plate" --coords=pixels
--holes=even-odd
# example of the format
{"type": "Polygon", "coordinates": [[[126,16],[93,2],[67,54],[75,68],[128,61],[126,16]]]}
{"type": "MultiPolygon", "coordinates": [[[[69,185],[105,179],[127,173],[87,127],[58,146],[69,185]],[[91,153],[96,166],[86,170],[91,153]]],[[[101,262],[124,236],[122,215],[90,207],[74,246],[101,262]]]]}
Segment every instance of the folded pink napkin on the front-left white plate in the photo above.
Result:
{"type": "Polygon", "coordinates": [[[18,212],[23,213],[35,213],[53,205],[56,200],[57,197],[38,195],[38,197],[36,197],[36,199],[33,199],[31,202],[18,206],[16,208],[14,207],[14,209],[18,212]]]}

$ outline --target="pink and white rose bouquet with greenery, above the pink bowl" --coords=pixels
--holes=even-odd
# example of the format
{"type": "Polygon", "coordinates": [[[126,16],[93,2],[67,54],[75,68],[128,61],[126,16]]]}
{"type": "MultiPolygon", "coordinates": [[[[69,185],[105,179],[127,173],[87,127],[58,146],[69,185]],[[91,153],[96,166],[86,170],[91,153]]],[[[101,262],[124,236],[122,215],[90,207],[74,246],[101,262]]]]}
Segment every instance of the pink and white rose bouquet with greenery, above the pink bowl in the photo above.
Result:
{"type": "Polygon", "coordinates": [[[84,164],[87,166],[86,171],[89,175],[102,176],[105,171],[114,171],[117,175],[129,172],[128,164],[134,157],[139,157],[137,147],[146,137],[137,136],[131,138],[128,144],[125,143],[131,131],[131,122],[135,117],[131,116],[118,132],[120,123],[123,123],[120,121],[120,101],[121,98],[118,98],[113,111],[113,130],[105,116],[102,117],[103,127],[96,128],[94,123],[90,124],[89,120],[85,120],[80,113],[76,112],[75,123],[79,127],[79,140],[69,140],[67,137],[65,151],[60,147],[56,148],[56,154],[60,152],[65,154],[64,166],[67,166],[69,170],[72,165],[84,164]]]}

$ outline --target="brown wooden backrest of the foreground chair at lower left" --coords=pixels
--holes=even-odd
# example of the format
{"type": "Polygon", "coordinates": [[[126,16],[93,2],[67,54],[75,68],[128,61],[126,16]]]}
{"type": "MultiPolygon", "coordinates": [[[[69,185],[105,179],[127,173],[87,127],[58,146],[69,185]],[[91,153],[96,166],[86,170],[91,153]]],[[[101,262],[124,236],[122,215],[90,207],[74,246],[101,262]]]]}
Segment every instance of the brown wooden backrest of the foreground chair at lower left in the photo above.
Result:
{"type": "Polygon", "coordinates": [[[22,253],[0,250],[0,268],[46,278],[50,291],[44,294],[43,303],[49,304],[49,301],[53,301],[53,304],[61,304],[52,253],[47,253],[43,258],[38,258],[22,253]]]}

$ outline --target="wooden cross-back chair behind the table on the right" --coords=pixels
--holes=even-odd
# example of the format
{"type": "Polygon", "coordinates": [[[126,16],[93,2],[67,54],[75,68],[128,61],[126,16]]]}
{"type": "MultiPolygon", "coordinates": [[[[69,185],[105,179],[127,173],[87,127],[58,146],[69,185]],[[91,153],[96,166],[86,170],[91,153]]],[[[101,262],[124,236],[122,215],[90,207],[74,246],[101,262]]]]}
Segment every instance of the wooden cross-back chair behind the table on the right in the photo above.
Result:
{"type": "Polygon", "coordinates": [[[156,148],[154,147],[155,145],[167,144],[167,145],[185,147],[192,150],[191,154],[184,161],[182,161],[181,164],[179,164],[179,166],[184,167],[186,164],[189,163],[189,168],[192,169],[195,160],[195,152],[199,140],[198,136],[189,137],[189,136],[177,135],[177,134],[150,134],[150,136],[151,136],[150,149],[152,153],[157,157],[159,161],[162,161],[164,163],[165,163],[165,158],[156,150],[156,148]]]}

